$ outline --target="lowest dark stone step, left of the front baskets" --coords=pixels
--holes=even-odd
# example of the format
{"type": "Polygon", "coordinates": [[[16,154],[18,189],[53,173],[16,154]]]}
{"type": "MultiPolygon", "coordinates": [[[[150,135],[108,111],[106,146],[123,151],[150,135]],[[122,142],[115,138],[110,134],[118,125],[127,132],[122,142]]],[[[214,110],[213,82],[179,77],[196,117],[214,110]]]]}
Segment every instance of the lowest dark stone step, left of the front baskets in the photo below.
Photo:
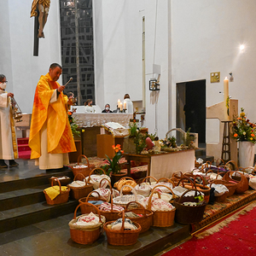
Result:
{"type": "Polygon", "coordinates": [[[2,211],[0,215],[0,233],[72,213],[78,205],[79,201],[76,200],[52,206],[46,202],[38,202],[2,211]]]}

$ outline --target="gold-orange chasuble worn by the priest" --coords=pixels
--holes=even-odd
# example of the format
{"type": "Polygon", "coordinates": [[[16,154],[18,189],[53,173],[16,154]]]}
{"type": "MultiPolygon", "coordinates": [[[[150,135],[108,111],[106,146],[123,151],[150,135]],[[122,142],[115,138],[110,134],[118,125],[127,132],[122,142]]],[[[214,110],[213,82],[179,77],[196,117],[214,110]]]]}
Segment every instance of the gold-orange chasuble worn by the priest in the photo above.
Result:
{"type": "Polygon", "coordinates": [[[41,76],[35,92],[29,147],[32,148],[31,159],[39,158],[41,153],[41,131],[47,125],[47,152],[61,154],[76,151],[73,134],[67,118],[67,96],[61,92],[57,100],[50,103],[51,96],[60,86],[53,81],[49,73],[41,76]]]}

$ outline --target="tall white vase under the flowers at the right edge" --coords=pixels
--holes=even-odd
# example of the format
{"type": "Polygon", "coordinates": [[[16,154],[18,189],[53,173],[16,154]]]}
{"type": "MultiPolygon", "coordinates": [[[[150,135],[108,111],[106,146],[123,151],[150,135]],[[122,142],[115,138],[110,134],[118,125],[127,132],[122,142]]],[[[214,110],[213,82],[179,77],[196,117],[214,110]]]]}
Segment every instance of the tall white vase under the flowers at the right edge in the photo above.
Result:
{"type": "Polygon", "coordinates": [[[254,166],[254,144],[251,142],[239,142],[239,166],[242,168],[254,166]]]}

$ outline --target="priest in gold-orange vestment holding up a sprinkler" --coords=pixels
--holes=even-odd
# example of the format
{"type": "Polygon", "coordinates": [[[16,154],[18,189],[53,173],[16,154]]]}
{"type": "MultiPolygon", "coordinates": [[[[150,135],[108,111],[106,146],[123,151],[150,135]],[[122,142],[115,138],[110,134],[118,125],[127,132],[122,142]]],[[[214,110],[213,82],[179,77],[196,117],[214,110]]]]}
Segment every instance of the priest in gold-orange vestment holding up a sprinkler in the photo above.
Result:
{"type": "Polygon", "coordinates": [[[29,146],[31,159],[36,159],[42,170],[62,168],[69,163],[67,153],[76,151],[67,118],[67,96],[62,92],[65,86],[56,82],[61,73],[59,64],[51,64],[35,91],[29,146]]]}

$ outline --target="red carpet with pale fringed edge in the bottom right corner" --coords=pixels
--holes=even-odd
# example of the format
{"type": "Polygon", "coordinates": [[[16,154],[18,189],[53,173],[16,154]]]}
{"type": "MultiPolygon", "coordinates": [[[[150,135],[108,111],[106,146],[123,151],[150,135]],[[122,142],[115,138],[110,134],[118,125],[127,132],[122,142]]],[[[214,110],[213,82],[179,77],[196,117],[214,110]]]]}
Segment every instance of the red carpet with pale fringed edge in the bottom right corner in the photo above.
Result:
{"type": "Polygon", "coordinates": [[[256,203],[254,202],[236,212],[230,218],[226,218],[223,222],[202,232],[197,237],[203,238],[194,236],[191,240],[163,255],[256,255],[256,203]]]}

